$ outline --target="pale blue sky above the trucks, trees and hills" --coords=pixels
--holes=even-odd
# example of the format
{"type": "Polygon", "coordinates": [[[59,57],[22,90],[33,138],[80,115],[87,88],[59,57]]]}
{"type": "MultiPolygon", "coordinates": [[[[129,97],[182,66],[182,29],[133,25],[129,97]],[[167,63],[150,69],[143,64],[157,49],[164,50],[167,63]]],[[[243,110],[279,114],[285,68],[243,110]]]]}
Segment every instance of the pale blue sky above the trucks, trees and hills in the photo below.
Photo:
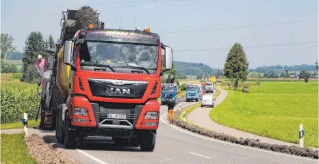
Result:
{"type": "MultiPolygon", "coordinates": [[[[148,1],[2,0],[1,33],[9,33],[15,39],[14,46],[17,50],[23,51],[25,39],[31,31],[41,31],[44,38],[52,34],[57,40],[60,37],[61,11],[90,5],[101,12],[101,20],[107,28],[118,28],[121,18],[121,29],[134,29],[137,15],[138,27],[150,27],[151,31],[159,33],[162,42],[172,46],[174,51],[230,48],[235,42],[240,42],[243,46],[255,46],[315,41],[317,43],[244,50],[250,68],[277,64],[314,64],[318,59],[318,20],[262,27],[171,33],[316,19],[318,0],[156,0],[146,3],[148,1]],[[140,4],[134,5],[138,3],[140,4]]],[[[212,68],[222,68],[228,51],[217,49],[175,52],[174,60],[201,62],[212,68]]]]}

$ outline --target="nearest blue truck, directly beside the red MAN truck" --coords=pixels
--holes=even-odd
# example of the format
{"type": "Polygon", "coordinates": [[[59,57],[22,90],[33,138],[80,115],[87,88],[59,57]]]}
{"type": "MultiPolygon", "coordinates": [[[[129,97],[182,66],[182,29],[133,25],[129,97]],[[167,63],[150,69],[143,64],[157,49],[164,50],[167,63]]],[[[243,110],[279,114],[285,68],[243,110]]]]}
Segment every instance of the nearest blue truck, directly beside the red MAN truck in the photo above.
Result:
{"type": "Polygon", "coordinates": [[[163,83],[162,84],[162,105],[173,104],[177,105],[179,90],[176,83],[163,83]]]}

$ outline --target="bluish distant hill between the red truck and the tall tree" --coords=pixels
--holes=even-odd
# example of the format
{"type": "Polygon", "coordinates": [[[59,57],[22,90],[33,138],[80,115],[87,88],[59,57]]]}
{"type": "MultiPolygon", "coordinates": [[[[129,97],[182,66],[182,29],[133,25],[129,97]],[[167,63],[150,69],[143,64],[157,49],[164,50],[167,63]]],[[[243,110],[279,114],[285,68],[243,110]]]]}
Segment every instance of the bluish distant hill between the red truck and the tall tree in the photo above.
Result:
{"type": "Polygon", "coordinates": [[[216,69],[210,68],[202,63],[189,63],[183,61],[173,61],[178,74],[194,75],[213,74],[216,69]]]}

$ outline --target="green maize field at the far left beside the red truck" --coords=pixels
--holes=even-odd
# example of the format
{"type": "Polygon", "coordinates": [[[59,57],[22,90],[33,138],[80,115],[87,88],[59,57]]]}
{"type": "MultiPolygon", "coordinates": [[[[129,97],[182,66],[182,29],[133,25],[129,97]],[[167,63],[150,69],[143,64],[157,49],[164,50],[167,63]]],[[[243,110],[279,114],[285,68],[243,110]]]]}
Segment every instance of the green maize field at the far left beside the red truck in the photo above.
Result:
{"type": "Polygon", "coordinates": [[[36,84],[20,82],[22,74],[1,74],[1,124],[19,122],[23,112],[36,117],[40,96],[36,84]]]}

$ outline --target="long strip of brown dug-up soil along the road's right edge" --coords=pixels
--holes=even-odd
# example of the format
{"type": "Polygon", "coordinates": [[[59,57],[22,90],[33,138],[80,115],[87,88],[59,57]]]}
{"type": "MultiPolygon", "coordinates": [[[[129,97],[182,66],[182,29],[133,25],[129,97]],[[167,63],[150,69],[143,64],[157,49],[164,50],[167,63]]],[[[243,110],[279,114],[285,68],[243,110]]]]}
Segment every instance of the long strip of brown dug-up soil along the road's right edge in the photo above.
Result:
{"type": "Polygon", "coordinates": [[[309,148],[301,148],[298,146],[275,145],[270,143],[259,142],[259,140],[255,140],[255,139],[248,139],[248,138],[244,139],[242,137],[237,138],[231,135],[216,133],[214,131],[207,131],[205,128],[201,128],[199,126],[188,124],[187,122],[179,120],[179,117],[178,117],[179,115],[180,115],[180,112],[175,111],[174,124],[188,131],[192,131],[193,133],[198,133],[200,135],[205,135],[207,137],[220,139],[222,141],[228,141],[228,142],[240,144],[243,146],[251,146],[253,148],[261,148],[264,150],[270,150],[274,152],[282,152],[282,153],[293,154],[297,156],[305,156],[305,157],[309,157],[313,159],[318,159],[318,150],[312,150],[309,148]]]}

